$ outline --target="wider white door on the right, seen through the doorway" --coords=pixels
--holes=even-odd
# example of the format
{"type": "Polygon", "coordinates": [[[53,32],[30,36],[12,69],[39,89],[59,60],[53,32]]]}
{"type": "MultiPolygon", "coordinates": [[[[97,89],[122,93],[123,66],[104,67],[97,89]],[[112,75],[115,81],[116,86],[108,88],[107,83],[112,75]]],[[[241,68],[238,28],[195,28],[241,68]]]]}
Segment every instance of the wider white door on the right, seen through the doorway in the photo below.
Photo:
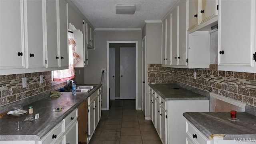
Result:
{"type": "Polygon", "coordinates": [[[136,48],[120,48],[120,99],[136,99],[136,48]]]}

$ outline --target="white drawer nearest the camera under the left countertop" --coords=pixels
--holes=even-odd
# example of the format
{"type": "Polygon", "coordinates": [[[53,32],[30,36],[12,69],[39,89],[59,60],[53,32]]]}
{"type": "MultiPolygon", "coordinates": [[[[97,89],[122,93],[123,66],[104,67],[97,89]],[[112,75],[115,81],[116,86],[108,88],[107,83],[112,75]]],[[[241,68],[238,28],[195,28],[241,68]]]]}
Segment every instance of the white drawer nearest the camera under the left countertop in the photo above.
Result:
{"type": "Polygon", "coordinates": [[[50,132],[48,132],[46,135],[43,136],[41,139],[42,144],[53,144],[56,142],[56,140],[62,139],[62,134],[64,132],[64,122],[63,120],[57,124],[50,132]]]}

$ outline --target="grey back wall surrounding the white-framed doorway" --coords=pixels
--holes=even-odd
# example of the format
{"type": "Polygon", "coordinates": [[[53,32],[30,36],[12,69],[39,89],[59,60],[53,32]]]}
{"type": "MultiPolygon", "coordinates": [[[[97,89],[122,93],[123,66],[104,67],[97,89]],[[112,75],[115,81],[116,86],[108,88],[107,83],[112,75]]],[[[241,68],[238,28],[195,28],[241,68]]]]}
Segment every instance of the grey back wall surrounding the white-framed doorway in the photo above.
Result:
{"type": "MultiPolygon", "coordinates": [[[[138,108],[141,108],[141,83],[142,83],[142,31],[141,30],[95,30],[95,50],[88,50],[88,66],[84,68],[85,83],[99,84],[101,68],[107,68],[107,41],[138,41],[138,108]]],[[[102,108],[107,107],[107,75],[104,74],[104,88],[102,108]]]]}

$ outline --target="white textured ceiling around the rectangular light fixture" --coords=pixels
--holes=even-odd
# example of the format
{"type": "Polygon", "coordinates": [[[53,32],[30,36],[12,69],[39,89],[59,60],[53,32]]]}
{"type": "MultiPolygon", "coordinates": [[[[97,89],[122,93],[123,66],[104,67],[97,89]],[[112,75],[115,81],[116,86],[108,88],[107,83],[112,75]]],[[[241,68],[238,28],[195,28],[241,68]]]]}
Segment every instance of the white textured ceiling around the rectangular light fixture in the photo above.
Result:
{"type": "Polygon", "coordinates": [[[177,0],[70,0],[94,28],[141,28],[144,20],[161,20],[177,0]],[[117,4],[136,5],[134,15],[116,14],[117,4]]]}

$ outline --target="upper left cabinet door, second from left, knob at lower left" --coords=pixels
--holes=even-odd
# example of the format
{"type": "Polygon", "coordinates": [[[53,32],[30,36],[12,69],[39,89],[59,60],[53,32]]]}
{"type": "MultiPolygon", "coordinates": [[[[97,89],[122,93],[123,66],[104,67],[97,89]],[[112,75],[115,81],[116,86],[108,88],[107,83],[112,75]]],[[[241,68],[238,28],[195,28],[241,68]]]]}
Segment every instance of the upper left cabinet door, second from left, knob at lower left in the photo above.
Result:
{"type": "Polygon", "coordinates": [[[43,1],[24,1],[27,68],[45,67],[43,1]]]}

